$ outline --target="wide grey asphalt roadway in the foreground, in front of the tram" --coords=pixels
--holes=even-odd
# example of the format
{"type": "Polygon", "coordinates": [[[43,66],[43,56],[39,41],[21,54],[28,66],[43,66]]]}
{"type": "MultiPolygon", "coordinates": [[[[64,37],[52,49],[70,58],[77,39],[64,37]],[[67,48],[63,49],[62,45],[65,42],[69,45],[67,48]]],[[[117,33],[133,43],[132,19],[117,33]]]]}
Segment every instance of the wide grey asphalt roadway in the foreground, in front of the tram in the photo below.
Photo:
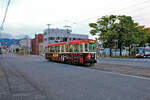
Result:
{"type": "Polygon", "coordinates": [[[150,100],[150,79],[48,62],[38,56],[0,55],[0,66],[24,76],[21,79],[45,100],[150,100]]]}

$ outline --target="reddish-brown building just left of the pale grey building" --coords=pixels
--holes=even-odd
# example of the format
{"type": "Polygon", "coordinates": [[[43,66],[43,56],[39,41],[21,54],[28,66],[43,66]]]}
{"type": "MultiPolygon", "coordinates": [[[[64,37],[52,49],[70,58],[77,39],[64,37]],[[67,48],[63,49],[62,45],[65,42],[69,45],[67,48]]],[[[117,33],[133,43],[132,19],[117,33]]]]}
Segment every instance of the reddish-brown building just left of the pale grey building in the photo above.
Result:
{"type": "Polygon", "coordinates": [[[43,43],[43,34],[35,34],[35,38],[31,39],[31,54],[41,55],[41,44],[43,43]]]}

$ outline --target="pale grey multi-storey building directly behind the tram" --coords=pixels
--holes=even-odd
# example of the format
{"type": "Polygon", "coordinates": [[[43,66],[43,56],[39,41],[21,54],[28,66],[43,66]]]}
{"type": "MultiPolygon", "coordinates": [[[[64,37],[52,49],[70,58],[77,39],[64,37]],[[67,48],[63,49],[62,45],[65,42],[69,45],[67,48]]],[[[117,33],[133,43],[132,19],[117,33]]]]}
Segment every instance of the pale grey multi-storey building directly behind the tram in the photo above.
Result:
{"type": "Polygon", "coordinates": [[[46,44],[70,41],[70,40],[84,40],[88,39],[88,35],[72,34],[68,29],[46,29],[43,36],[43,53],[45,52],[46,44]]]}

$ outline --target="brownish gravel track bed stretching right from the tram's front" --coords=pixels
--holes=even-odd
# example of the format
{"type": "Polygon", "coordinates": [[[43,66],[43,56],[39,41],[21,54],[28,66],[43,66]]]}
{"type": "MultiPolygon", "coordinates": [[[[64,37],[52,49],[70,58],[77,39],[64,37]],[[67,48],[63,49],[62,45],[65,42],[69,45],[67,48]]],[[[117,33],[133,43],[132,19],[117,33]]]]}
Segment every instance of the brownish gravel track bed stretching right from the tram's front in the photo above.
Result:
{"type": "Polygon", "coordinates": [[[121,64],[97,63],[95,66],[90,68],[150,78],[150,68],[142,68],[139,66],[136,67],[121,64]]]}

